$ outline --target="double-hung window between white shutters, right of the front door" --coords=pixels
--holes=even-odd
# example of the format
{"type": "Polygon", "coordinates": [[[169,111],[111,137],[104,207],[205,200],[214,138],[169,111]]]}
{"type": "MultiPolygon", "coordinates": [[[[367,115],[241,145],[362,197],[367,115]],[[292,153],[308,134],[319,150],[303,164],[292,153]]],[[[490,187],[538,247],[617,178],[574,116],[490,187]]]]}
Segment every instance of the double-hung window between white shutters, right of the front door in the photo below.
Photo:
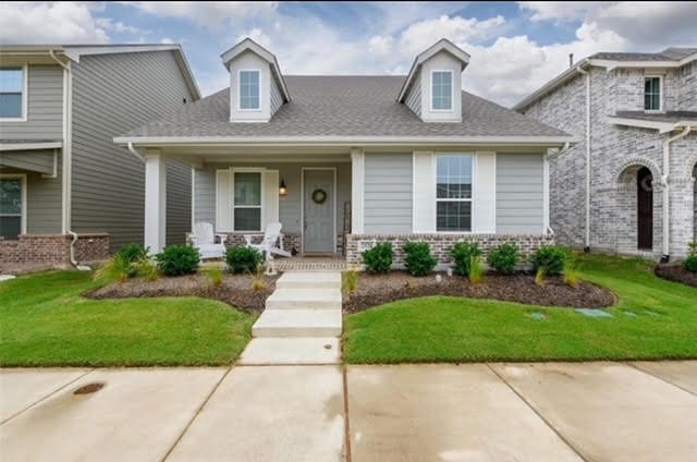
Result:
{"type": "Polygon", "coordinates": [[[472,231],[472,155],[440,155],[436,170],[436,230],[472,231]]]}

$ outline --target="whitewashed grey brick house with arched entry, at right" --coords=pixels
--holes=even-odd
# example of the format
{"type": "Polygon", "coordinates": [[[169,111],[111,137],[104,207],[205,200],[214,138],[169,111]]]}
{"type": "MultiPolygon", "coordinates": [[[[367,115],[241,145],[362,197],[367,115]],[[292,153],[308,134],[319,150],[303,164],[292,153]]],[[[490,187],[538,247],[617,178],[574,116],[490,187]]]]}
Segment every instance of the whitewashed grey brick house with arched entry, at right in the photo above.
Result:
{"type": "Polygon", "coordinates": [[[686,255],[697,229],[697,48],[596,53],[514,109],[580,139],[550,156],[558,242],[686,255]]]}

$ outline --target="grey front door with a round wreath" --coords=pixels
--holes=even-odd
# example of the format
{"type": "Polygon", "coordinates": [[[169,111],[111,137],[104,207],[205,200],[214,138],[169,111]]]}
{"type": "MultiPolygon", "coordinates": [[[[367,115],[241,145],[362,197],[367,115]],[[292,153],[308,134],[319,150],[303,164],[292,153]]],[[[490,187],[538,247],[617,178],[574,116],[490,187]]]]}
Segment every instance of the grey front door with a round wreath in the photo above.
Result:
{"type": "Polygon", "coordinates": [[[303,252],[334,253],[334,170],[303,170],[303,252]]]}

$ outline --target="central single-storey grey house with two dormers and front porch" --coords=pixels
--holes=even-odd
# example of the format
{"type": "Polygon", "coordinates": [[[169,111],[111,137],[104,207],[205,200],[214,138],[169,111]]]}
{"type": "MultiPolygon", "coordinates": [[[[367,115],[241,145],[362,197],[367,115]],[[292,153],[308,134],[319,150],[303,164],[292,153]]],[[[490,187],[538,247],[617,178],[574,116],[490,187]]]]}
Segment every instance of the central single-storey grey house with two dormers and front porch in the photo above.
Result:
{"type": "Polygon", "coordinates": [[[427,241],[441,264],[462,240],[553,242],[547,153],[574,138],[462,92],[469,56],[452,42],[401,76],[284,75],[250,39],[222,64],[229,88],[114,138],[145,158],[151,250],[169,234],[168,160],[193,168],[192,220],[229,245],[276,222],[285,250],[352,264],[383,241],[427,241]]]}

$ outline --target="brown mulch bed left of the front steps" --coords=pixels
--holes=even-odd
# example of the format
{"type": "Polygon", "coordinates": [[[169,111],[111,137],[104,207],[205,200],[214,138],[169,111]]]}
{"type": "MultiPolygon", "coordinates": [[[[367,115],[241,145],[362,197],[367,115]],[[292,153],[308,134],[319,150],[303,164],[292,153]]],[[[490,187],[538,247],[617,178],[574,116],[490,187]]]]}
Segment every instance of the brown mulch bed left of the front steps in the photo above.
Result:
{"type": "Polygon", "coordinates": [[[268,276],[260,291],[252,289],[249,276],[225,275],[222,284],[215,287],[206,275],[161,277],[156,281],[131,279],[122,283],[112,282],[86,292],[89,299],[127,299],[138,296],[200,296],[219,300],[247,313],[264,309],[266,299],[276,289],[278,276],[268,276]]]}

